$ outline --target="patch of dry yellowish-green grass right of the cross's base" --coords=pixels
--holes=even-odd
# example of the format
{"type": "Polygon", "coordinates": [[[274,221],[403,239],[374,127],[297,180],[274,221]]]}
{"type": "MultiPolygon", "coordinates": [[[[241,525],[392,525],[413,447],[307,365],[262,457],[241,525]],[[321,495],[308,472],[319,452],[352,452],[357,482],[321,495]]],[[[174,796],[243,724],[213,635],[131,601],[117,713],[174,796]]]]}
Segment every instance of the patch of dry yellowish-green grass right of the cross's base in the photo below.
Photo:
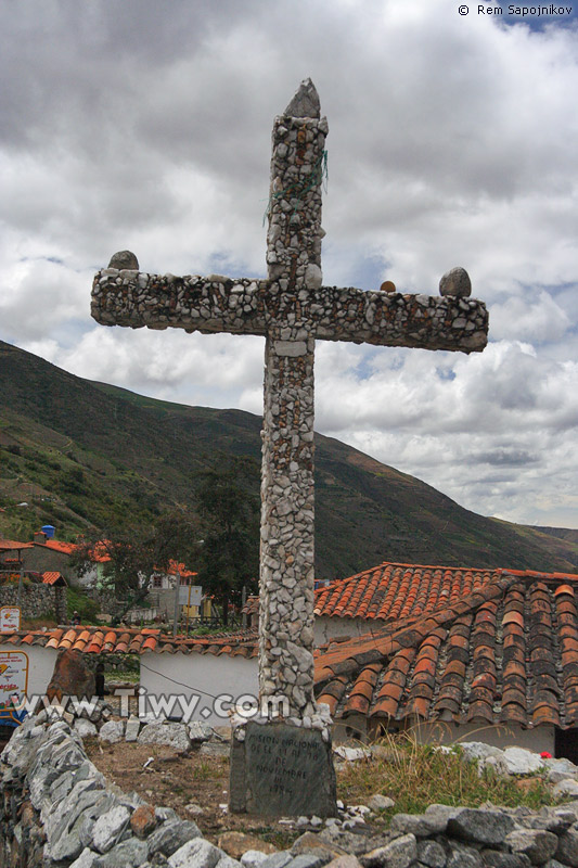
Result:
{"type": "Polygon", "coordinates": [[[419,744],[411,735],[387,736],[376,742],[383,755],[346,763],[338,773],[337,789],[349,803],[363,803],[374,793],[387,795],[395,807],[384,812],[422,814],[431,804],[479,807],[485,802],[532,809],[555,804],[545,780],[535,777],[519,786],[493,770],[478,773],[477,763],[465,762],[457,746],[446,753],[419,744]]]}

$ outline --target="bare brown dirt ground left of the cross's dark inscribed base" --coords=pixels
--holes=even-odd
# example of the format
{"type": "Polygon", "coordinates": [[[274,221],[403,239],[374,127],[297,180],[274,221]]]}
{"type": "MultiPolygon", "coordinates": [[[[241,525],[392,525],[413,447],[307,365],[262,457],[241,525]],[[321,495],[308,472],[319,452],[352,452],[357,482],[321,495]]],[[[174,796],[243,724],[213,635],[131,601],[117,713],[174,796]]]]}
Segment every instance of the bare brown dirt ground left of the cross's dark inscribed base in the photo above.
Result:
{"type": "Polygon", "coordinates": [[[105,744],[97,739],[86,739],[85,750],[97,768],[121,790],[137,792],[155,806],[171,807],[182,819],[194,820],[213,843],[226,831],[239,831],[257,834],[282,848],[303,831],[269,817],[229,814],[227,756],[207,756],[195,749],[183,755],[164,745],[125,741],[105,744]],[[203,813],[197,814],[194,806],[203,813]]]}

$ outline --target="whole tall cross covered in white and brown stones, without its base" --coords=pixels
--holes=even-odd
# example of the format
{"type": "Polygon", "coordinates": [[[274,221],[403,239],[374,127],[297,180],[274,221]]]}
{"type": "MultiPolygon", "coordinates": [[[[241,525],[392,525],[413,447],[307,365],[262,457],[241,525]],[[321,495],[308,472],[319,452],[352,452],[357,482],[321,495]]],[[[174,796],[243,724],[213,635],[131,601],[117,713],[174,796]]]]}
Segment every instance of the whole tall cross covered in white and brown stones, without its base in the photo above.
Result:
{"type": "Polygon", "coordinates": [[[113,257],[95,276],[92,291],[92,316],[105,326],[266,337],[259,691],[261,700],[286,697],[290,723],[305,726],[316,715],[314,342],[471,353],[485,347],[488,328],[485,305],[464,297],[470,281],[463,270],[458,280],[450,272],[442,297],[322,285],[326,133],[317,91],[307,79],[274,120],[268,280],[149,275],[128,254],[113,257]]]}

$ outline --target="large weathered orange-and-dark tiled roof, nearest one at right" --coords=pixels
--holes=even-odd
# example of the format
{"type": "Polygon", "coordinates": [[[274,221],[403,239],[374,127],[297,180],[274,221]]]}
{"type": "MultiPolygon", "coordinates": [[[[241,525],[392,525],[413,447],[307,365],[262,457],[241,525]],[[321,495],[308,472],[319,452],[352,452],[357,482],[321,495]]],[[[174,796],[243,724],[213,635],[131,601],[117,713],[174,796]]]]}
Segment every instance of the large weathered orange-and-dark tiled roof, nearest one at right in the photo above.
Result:
{"type": "Polygon", "coordinates": [[[378,720],[578,725],[578,575],[500,572],[415,620],[333,643],[318,701],[378,720]]]}

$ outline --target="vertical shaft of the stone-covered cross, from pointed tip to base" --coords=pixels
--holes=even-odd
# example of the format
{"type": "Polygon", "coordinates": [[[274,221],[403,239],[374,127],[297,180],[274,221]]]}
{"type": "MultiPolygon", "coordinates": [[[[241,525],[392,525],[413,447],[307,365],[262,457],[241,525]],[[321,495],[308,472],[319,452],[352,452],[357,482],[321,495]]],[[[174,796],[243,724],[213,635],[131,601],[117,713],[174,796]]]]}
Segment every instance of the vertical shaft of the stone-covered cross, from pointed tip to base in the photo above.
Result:
{"type": "Polygon", "coordinates": [[[305,309],[321,286],[325,118],[310,81],[275,118],[267,263],[259,692],[299,722],[313,698],[313,353],[305,309]]]}

